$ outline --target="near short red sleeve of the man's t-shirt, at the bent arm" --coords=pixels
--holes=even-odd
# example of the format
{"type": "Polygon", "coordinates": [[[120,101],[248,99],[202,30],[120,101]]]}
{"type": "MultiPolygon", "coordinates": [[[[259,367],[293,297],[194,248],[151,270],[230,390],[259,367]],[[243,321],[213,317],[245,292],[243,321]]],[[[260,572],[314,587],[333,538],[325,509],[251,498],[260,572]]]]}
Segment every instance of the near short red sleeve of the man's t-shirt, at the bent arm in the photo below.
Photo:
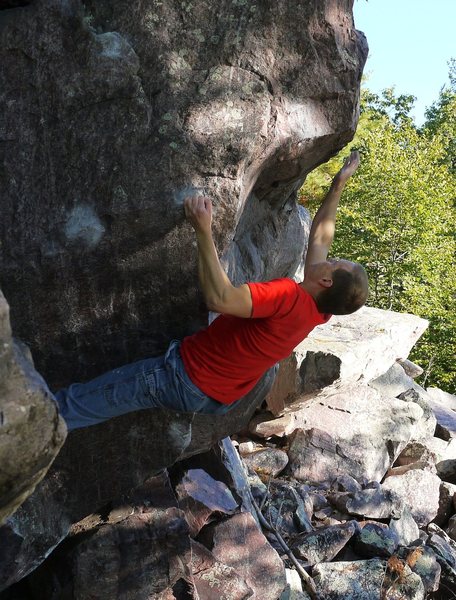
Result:
{"type": "Polygon", "coordinates": [[[252,318],[281,317],[286,315],[298,298],[292,279],[273,279],[265,283],[248,283],[252,296],[252,318]]]}

